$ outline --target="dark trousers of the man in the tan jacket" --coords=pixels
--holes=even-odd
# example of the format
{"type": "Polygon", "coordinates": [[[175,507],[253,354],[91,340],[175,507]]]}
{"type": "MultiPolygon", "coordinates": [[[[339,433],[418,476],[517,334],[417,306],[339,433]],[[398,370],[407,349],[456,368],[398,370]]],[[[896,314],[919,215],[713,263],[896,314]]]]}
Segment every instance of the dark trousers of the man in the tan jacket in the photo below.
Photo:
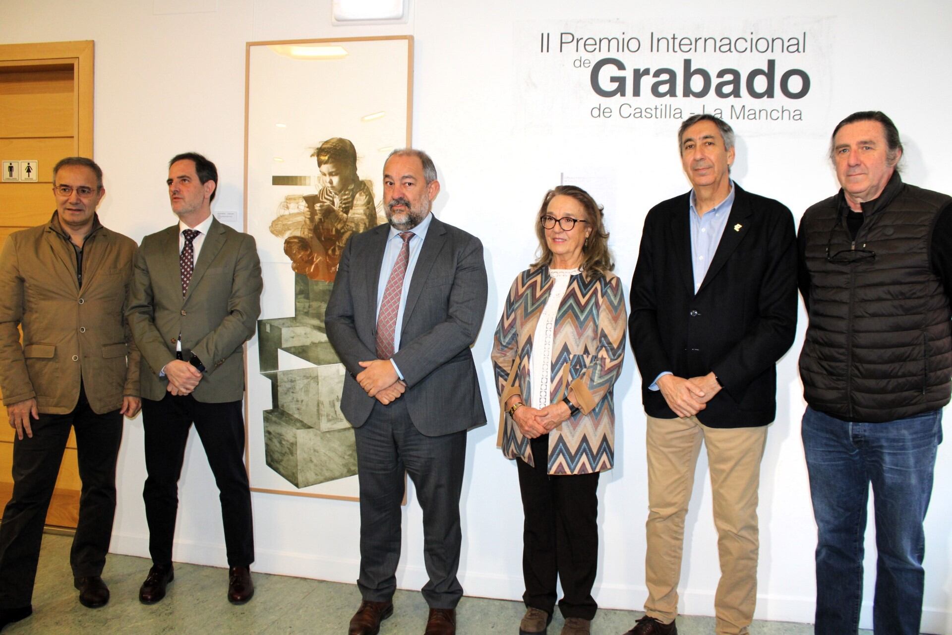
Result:
{"type": "Polygon", "coordinates": [[[101,575],[116,508],[116,457],[122,441],[119,410],[96,414],[80,388],[69,414],[30,419],[32,438],[13,440],[13,496],[0,525],[0,608],[30,605],[40,541],[59,474],[69,428],[76,430],[76,457],[83,481],[79,523],[69,566],[76,578],[101,575]]]}

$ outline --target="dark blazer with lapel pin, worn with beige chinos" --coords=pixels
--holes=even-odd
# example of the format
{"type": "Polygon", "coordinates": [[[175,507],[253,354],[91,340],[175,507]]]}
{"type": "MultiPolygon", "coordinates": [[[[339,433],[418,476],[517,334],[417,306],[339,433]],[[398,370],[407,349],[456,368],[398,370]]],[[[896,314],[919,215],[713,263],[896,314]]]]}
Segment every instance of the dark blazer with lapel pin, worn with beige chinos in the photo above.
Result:
{"type": "Polygon", "coordinates": [[[651,208],[631,280],[628,333],[642,373],[645,411],[672,419],[660,390],[670,370],[689,378],[714,371],[724,387],[698,413],[709,427],[765,426],[776,414],[776,363],[797,326],[793,215],[781,203],[734,184],[724,235],[694,292],[690,192],[651,208]]]}

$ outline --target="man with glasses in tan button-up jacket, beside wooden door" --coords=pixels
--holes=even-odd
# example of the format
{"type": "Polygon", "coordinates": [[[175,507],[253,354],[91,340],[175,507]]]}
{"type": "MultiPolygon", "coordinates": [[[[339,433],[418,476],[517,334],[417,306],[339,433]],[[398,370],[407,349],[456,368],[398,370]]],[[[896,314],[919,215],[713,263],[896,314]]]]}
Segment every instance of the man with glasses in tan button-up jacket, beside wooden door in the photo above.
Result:
{"type": "Polygon", "coordinates": [[[83,605],[109,602],[100,575],[122,417],[139,411],[139,352],[124,319],[135,243],[99,223],[106,189],[90,159],[57,163],[52,189],[50,222],[10,234],[0,254],[0,389],[16,429],[13,495],[0,525],[0,628],[32,612],[43,525],[70,427],[83,479],[69,555],[73,582],[83,605]]]}

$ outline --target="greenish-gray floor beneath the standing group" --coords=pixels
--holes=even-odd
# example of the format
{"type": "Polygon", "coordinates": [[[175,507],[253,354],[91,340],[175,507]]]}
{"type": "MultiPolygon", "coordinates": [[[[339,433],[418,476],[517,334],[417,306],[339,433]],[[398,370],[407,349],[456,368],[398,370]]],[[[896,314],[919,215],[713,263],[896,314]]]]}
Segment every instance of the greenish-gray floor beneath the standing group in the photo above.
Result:
{"type": "MultiPolygon", "coordinates": [[[[4,635],[23,633],[339,633],[359,604],[354,585],[255,574],[254,599],[232,606],[225,598],[228,575],[210,566],[176,565],[175,581],[166,599],[157,605],[142,605],[139,585],[149,561],[110,555],[104,579],[112,599],[109,605],[89,609],[76,600],[69,576],[69,545],[66,536],[46,535],[33,593],[33,615],[4,629],[4,635]]],[[[398,591],[394,613],[381,628],[381,635],[419,634],[426,623],[426,603],[417,592],[398,591]]],[[[521,603],[485,598],[464,598],[457,609],[460,635],[516,633],[524,607],[521,603]]],[[[600,610],[592,632],[620,635],[641,613],[600,610]]],[[[557,634],[562,618],[556,615],[548,632],[557,634]]],[[[755,635],[807,635],[811,625],[756,622],[755,635]]],[[[679,617],[681,635],[710,635],[709,617],[679,617]]],[[[867,631],[863,631],[867,632],[867,631]]]]}

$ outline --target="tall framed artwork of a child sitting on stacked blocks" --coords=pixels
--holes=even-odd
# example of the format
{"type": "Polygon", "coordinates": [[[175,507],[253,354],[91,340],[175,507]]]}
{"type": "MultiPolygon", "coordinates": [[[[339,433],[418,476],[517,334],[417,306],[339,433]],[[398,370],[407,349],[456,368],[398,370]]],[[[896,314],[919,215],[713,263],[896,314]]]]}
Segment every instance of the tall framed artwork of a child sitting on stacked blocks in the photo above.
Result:
{"type": "Polygon", "coordinates": [[[412,64],[411,36],[247,44],[245,224],[265,279],[248,343],[254,491],[358,500],[324,311],[347,239],[387,222],[381,173],[410,145],[412,64]]]}

